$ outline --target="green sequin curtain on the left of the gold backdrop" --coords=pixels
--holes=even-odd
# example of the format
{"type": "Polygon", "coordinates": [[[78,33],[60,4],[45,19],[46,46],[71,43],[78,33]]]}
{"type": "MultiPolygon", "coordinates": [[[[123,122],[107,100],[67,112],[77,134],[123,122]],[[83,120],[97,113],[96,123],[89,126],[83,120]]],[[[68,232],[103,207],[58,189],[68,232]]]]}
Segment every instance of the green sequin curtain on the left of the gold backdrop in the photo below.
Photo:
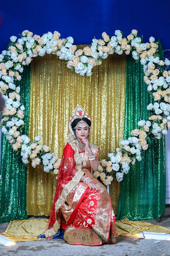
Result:
{"type": "MultiPolygon", "coordinates": [[[[28,135],[29,103],[30,103],[30,66],[24,68],[21,81],[16,86],[21,87],[21,104],[25,106],[24,134],[28,135]]],[[[27,199],[26,180],[27,165],[22,163],[20,154],[16,155],[4,134],[1,137],[1,180],[0,180],[0,222],[13,219],[26,219],[27,199]]]]}

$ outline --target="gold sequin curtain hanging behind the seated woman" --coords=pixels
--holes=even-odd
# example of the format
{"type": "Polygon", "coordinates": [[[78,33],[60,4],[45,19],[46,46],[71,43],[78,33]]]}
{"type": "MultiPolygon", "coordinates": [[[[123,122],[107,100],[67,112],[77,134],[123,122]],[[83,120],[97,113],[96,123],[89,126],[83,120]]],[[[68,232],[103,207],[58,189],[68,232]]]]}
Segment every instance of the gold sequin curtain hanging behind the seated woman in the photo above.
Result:
{"type": "MultiPolygon", "coordinates": [[[[82,48],[82,46],[79,46],[82,48]]],[[[92,75],[80,76],[55,55],[36,57],[31,63],[29,137],[40,136],[61,158],[69,132],[68,123],[80,104],[91,117],[90,142],[99,146],[98,159],[107,157],[123,139],[126,56],[110,55],[92,75]]],[[[119,183],[110,185],[114,212],[117,213],[119,183]]],[[[28,215],[49,215],[55,194],[55,175],[28,165],[28,215]]]]}

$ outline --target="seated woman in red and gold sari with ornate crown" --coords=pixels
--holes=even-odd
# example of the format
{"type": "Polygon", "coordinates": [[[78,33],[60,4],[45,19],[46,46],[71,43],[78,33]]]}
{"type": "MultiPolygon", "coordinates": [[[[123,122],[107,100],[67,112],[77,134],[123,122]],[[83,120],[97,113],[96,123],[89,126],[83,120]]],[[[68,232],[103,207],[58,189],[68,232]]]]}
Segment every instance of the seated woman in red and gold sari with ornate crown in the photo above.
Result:
{"type": "Polygon", "coordinates": [[[90,117],[78,105],[57,177],[46,238],[64,229],[69,244],[97,246],[116,243],[115,215],[106,188],[91,170],[98,169],[98,147],[88,141],[90,117]]]}

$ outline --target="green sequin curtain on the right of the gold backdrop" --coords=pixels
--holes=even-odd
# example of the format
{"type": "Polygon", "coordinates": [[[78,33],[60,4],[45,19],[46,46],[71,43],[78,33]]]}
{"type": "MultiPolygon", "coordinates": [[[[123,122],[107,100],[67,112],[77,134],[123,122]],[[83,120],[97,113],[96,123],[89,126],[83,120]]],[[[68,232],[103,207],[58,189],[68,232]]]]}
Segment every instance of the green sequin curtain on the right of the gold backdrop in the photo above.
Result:
{"type": "MultiPolygon", "coordinates": [[[[163,59],[159,41],[159,55],[163,59]]],[[[124,139],[130,137],[137,122],[148,120],[146,111],[151,98],[143,81],[143,66],[132,56],[126,62],[126,102],[124,139]]],[[[148,139],[148,150],[143,151],[140,162],[136,161],[129,173],[124,175],[120,187],[117,219],[156,219],[164,214],[166,199],[165,137],[161,140],[148,139]]]]}

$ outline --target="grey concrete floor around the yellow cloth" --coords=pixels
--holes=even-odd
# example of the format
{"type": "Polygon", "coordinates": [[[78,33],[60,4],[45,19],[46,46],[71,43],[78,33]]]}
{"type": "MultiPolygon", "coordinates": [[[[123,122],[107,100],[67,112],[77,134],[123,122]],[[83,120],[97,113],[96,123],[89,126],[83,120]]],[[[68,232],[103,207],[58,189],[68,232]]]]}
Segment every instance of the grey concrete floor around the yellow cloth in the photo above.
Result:
{"type": "MultiPolygon", "coordinates": [[[[155,220],[147,221],[156,224],[155,220]]],[[[170,207],[166,208],[165,214],[161,218],[160,226],[170,229],[170,207]]],[[[0,224],[0,233],[5,231],[8,223],[0,224]]],[[[0,244],[1,256],[170,256],[170,241],[138,239],[126,241],[125,237],[117,237],[117,244],[105,244],[103,246],[83,246],[69,245],[64,240],[39,240],[29,242],[16,242],[11,247],[0,244]]]]}

